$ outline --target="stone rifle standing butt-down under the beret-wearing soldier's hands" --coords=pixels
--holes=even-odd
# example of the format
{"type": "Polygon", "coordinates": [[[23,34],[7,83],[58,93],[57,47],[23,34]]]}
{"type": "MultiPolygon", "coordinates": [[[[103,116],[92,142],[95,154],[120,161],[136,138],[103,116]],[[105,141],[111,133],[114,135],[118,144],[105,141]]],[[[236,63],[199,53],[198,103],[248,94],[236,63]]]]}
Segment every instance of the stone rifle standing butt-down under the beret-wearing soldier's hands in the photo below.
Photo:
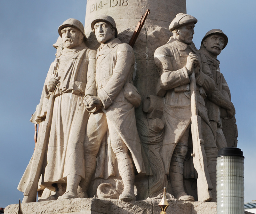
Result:
{"type": "Polygon", "coordinates": [[[193,164],[197,171],[197,197],[198,201],[212,200],[212,182],[207,169],[206,155],[204,151],[204,140],[202,138],[201,117],[198,115],[196,97],[195,71],[190,75],[191,93],[191,133],[193,143],[193,164]]]}

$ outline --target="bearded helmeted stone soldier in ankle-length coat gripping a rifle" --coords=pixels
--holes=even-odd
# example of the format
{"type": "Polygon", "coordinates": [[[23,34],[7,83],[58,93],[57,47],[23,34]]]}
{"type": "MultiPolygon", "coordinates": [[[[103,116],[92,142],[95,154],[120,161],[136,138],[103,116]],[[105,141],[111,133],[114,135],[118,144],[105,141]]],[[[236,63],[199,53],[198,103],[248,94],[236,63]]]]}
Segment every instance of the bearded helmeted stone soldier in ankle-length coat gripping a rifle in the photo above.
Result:
{"type": "MultiPolygon", "coordinates": [[[[87,77],[94,75],[96,52],[86,47],[84,26],[80,21],[68,19],[58,32],[64,49],[57,55],[43,91],[44,97],[49,99],[46,118],[47,114],[52,115],[44,124],[49,125],[45,131],[48,136],[39,131],[35,152],[21,178],[18,189],[24,192],[23,202],[35,201],[40,175],[40,185],[56,192],[49,200],[60,196],[60,186],[66,186],[60,199],[76,198],[77,187],[84,178],[83,142],[88,112],[83,99],[85,91],[92,89],[93,83],[88,82],[87,77]]],[[[37,119],[32,118],[32,122],[41,121],[37,119]]],[[[44,130],[44,125],[40,129],[44,130]]]]}

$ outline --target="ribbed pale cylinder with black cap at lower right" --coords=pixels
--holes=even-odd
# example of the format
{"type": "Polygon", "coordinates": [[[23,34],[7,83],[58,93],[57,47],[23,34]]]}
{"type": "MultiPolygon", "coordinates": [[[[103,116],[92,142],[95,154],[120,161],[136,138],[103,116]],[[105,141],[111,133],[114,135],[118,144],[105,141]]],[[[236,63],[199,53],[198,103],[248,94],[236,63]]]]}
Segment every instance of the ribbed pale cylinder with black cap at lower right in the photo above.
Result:
{"type": "Polygon", "coordinates": [[[217,214],[244,214],[244,156],[239,148],[218,153],[217,214]]]}

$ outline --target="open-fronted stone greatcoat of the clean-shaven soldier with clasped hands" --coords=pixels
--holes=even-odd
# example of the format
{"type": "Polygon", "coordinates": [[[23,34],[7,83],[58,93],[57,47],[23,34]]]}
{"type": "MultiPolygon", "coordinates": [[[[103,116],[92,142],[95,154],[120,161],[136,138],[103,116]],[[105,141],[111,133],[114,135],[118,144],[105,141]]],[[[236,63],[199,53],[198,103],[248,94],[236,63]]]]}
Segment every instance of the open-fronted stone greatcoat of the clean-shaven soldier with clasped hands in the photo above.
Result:
{"type": "Polygon", "coordinates": [[[136,93],[132,85],[133,49],[115,38],[99,47],[96,59],[97,96],[103,104],[100,111],[106,115],[110,143],[113,140],[122,140],[131,153],[137,172],[144,173],[135,108],[128,101],[129,95],[136,93]],[[131,93],[125,92],[126,87],[132,89],[131,93]]]}

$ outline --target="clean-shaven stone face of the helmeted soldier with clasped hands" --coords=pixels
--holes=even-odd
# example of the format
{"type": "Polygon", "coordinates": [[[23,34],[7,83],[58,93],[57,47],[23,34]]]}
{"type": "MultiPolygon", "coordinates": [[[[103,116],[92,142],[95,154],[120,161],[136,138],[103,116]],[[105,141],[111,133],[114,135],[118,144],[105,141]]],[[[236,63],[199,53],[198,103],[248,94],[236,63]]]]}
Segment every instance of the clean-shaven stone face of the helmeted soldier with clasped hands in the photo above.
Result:
{"type": "Polygon", "coordinates": [[[107,22],[97,22],[94,25],[95,36],[99,43],[105,44],[115,38],[115,29],[107,22]]]}

